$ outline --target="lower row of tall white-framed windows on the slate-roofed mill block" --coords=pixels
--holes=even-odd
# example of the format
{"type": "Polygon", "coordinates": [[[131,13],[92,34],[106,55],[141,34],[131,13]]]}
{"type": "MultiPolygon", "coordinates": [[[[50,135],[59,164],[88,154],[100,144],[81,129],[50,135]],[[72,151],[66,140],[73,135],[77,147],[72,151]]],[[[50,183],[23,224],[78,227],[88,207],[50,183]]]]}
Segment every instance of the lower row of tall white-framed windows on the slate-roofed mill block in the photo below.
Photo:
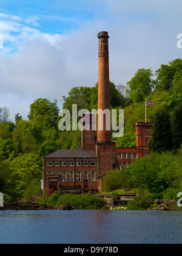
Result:
{"type": "MultiPolygon", "coordinates": [[[[51,175],[52,172],[49,171],[47,174],[51,175]]],[[[59,174],[58,171],[55,171],[55,174],[59,174]]],[[[69,177],[69,182],[74,182],[74,175],[73,172],[70,171],[69,174],[67,174],[66,171],[62,172],[62,182],[67,182],[67,177],[69,177]]],[[[89,174],[87,171],[84,172],[84,180],[87,180],[89,177],[89,174]]],[[[76,182],[81,182],[81,172],[76,172],[76,182]]],[[[91,173],[91,182],[95,182],[95,172],[93,171],[91,173]]]]}

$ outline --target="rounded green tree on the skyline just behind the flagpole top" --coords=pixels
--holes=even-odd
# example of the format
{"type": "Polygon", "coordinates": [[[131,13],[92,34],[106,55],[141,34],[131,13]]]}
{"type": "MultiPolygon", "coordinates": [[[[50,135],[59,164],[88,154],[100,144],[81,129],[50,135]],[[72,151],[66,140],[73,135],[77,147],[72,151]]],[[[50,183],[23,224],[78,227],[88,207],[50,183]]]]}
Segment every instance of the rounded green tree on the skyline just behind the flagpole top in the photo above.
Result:
{"type": "Polygon", "coordinates": [[[154,80],[152,80],[152,70],[151,69],[138,69],[135,76],[127,82],[130,88],[130,97],[134,102],[144,101],[146,96],[148,96],[152,89],[154,88],[154,80]]]}

